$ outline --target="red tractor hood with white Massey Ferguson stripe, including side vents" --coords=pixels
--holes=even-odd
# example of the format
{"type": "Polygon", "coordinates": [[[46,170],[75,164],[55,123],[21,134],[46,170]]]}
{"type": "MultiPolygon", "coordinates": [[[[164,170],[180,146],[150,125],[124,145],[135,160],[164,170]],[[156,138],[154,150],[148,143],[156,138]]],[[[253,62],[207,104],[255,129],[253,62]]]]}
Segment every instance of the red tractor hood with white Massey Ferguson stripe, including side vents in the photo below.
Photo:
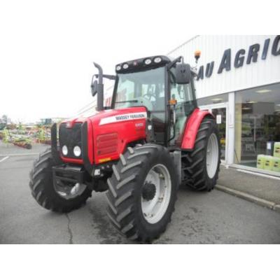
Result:
{"type": "MultiPolygon", "coordinates": [[[[100,111],[88,118],[72,118],[60,125],[59,144],[69,146],[69,151],[79,146],[83,142],[79,138],[81,127],[86,122],[87,143],[82,146],[87,146],[90,164],[118,160],[127,144],[146,139],[147,115],[146,107],[137,106],[100,111]]],[[[64,162],[83,163],[82,158],[72,154],[61,157],[64,162]]]]}

